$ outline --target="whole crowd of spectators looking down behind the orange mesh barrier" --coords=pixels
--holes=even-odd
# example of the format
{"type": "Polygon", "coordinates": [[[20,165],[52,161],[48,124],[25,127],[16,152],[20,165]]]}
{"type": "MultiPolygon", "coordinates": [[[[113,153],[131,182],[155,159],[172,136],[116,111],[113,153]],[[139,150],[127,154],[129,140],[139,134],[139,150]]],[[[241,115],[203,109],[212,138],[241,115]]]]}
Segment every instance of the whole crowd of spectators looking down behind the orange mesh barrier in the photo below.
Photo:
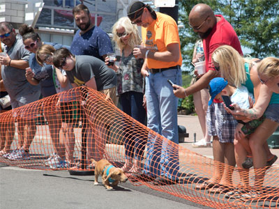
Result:
{"type": "MultiPolygon", "coordinates": [[[[130,3],[127,13],[128,17],[121,17],[112,27],[112,40],[121,54],[119,64],[110,63],[107,56],[113,53],[110,37],[94,26],[89,9],[83,4],[73,8],[79,30],[70,46],[43,42],[27,25],[20,26],[19,35],[12,24],[1,22],[0,38],[7,54],[0,56],[1,85],[3,82],[10,96],[11,107],[36,101],[40,94],[48,97],[87,86],[104,93],[116,105],[119,100],[122,110],[140,123],[144,123],[147,114],[147,127],[167,140],[158,143],[150,136],[142,139],[127,134],[122,169],[133,173],[135,179],[153,180],[158,185],[178,182],[178,149],[170,150],[167,141],[179,143],[178,100],[193,94],[204,133],[204,138],[193,146],[211,146],[212,137],[216,162],[213,176],[196,188],[218,192],[222,186],[232,187],[231,167],[236,164],[243,187],[249,186],[247,176],[252,166],[255,186],[261,187],[266,171],[263,168],[277,160],[266,140],[279,125],[279,59],[244,59],[232,25],[223,15],[215,15],[210,6],[199,3],[189,13],[189,26],[201,38],[195,45],[192,62],[195,65],[204,61],[206,72],[202,75],[195,72],[192,84],[183,88],[181,45],[174,19],[155,12],[142,1],[130,3]],[[142,36],[137,26],[142,27],[142,36]],[[168,80],[174,84],[169,85],[168,80]],[[222,96],[231,98],[234,110],[225,107],[222,96]],[[145,148],[146,163],[141,168],[145,148]]],[[[66,103],[65,107],[77,105],[70,99],[57,100],[66,103]]],[[[73,118],[67,117],[69,109],[63,109],[61,115],[51,114],[53,107],[55,104],[44,111],[50,113],[44,116],[55,150],[48,161],[57,160],[61,167],[71,167],[75,146],[70,125],[73,118]],[[52,121],[59,121],[58,117],[63,121],[53,124],[52,121]],[[59,140],[61,128],[67,140],[59,140]]],[[[10,150],[13,137],[6,142],[3,140],[8,137],[1,137],[0,154],[10,160],[29,159],[29,147],[36,134],[35,121],[18,115],[17,125],[17,149],[10,150]],[[23,140],[26,130],[27,140],[23,140]]],[[[5,132],[13,136],[15,127],[5,132]]]]}

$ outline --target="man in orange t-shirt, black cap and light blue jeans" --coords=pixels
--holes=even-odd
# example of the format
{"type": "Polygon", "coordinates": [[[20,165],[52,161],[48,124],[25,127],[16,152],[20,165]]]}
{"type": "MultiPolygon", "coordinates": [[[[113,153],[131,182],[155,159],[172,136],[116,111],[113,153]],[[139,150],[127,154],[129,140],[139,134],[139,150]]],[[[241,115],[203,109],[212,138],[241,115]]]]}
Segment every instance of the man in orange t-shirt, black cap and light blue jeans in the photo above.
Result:
{"type": "Polygon", "coordinates": [[[178,98],[167,80],[178,85],[182,83],[178,27],[172,17],[156,13],[142,1],[130,3],[127,13],[133,24],[142,26],[143,45],[135,47],[133,54],[137,59],[145,59],[142,75],[146,81],[147,126],[167,139],[161,143],[160,139],[149,134],[147,162],[141,176],[149,177],[142,179],[154,178],[156,185],[176,183],[179,171],[178,148],[168,142],[179,144],[178,98]]]}

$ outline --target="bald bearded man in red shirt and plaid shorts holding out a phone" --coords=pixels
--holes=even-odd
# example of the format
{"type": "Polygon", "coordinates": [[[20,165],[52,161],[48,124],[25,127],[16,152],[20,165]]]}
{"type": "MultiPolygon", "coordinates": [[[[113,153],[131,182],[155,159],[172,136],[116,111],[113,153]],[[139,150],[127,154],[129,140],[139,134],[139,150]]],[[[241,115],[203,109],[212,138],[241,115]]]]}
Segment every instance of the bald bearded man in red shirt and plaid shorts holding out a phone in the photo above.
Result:
{"type": "MultiPolygon", "coordinates": [[[[190,94],[207,88],[214,77],[220,77],[218,66],[211,61],[211,54],[220,45],[230,45],[242,55],[241,45],[231,24],[222,15],[214,15],[210,6],[199,3],[193,7],[189,14],[189,25],[203,40],[206,73],[188,88],[174,85],[174,95],[184,98],[190,94]]],[[[225,162],[235,166],[234,158],[234,130],[236,120],[225,111],[223,104],[214,100],[206,114],[206,123],[209,135],[213,136],[213,158],[218,162],[225,162]]],[[[232,171],[227,167],[216,167],[213,177],[205,183],[197,185],[197,189],[209,189],[210,183],[232,185],[232,171]],[[224,173],[224,174],[223,174],[224,173]]],[[[214,188],[213,188],[214,189],[214,188]]]]}

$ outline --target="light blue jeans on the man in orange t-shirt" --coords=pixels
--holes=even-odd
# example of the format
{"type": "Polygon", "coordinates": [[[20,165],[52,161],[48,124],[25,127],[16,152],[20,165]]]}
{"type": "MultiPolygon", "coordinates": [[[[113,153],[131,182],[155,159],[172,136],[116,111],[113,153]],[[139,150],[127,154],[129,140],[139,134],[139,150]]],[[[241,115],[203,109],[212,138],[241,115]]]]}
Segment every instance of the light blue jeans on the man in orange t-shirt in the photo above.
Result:
{"type": "Polygon", "coordinates": [[[175,178],[179,172],[179,149],[176,146],[179,144],[177,128],[179,99],[174,95],[167,79],[181,86],[181,70],[171,69],[155,74],[149,73],[149,77],[146,77],[147,127],[165,139],[149,132],[144,173],[153,177],[175,178]],[[169,141],[175,144],[169,144],[169,141]]]}

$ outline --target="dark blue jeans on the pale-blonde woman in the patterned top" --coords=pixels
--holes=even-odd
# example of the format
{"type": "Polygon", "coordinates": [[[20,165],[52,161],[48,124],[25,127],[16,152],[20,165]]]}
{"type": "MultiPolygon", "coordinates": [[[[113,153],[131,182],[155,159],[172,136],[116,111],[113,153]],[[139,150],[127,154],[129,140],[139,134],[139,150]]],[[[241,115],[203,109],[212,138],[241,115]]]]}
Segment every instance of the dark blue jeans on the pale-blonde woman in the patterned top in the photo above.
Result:
{"type": "MultiPolygon", "coordinates": [[[[135,91],[128,91],[120,95],[122,111],[142,124],[144,124],[146,116],[146,111],[144,107],[142,107],[143,97],[143,93],[135,91]]],[[[124,127],[126,127],[125,124],[124,127]]],[[[135,130],[135,127],[129,128],[130,130],[135,130]]],[[[126,127],[126,130],[129,130],[129,128],[126,127]]],[[[137,136],[137,134],[131,134],[127,132],[125,138],[126,140],[124,142],[124,146],[126,157],[135,157],[135,159],[140,160],[144,153],[146,144],[146,141],[142,139],[143,136],[137,136]]]]}

